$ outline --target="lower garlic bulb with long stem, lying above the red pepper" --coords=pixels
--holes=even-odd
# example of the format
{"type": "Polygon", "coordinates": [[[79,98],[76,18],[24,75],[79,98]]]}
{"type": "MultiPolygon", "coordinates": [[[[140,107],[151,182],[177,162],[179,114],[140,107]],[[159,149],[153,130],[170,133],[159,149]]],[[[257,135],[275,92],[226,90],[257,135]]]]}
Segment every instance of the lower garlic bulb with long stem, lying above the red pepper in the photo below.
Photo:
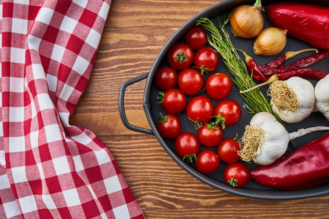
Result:
{"type": "Polygon", "coordinates": [[[281,123],[268,112],[259,112],[252,117],[240,140],[238,151],[245,162],[268,165],[284,155],[290,140],[313,131],[325,131],[329,127],[310,127],[288,133],[281,123]]]}

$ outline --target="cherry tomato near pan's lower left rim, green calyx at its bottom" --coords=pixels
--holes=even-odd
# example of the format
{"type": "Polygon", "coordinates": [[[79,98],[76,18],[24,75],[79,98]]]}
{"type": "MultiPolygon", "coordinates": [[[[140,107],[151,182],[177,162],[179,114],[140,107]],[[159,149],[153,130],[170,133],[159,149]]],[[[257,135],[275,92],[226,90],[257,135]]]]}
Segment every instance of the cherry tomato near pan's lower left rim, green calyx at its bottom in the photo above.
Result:
{"type": "Polygon", "coordinates": [[[180,133],[175,140],[175,153],[187,162],[193,162],[193,157],[196,157],[199,149],[199,140],[191,132],[180,133]]]}

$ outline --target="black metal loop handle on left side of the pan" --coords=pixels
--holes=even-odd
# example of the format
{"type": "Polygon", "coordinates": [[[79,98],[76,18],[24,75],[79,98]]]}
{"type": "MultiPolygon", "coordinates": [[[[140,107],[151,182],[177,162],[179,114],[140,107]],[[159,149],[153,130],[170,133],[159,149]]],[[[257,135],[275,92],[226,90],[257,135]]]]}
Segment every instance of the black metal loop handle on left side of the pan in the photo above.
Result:
{"type": "Polygon", "coordinates": [[[144,75],[139,75],[138,77],[134,77],[132,79],[125,81],[125,83],[123,83],[121,85],[120,92],[119,92],[119,114],[120,114],[123,125],[125,125],[125,127],[127,129],[154,135],[154,133],[151,129],[145,129],[145,128],[137,127],[135,125],[130,124],[127,120],[127,116],[125,115],[125,89],[127,88],[127,86],[130,86],[133,83],[137,83],[138,81],[141,81],[143,79],[146,79],[148,76],[149,76],[149,73],[146,73],[144,75]]]}

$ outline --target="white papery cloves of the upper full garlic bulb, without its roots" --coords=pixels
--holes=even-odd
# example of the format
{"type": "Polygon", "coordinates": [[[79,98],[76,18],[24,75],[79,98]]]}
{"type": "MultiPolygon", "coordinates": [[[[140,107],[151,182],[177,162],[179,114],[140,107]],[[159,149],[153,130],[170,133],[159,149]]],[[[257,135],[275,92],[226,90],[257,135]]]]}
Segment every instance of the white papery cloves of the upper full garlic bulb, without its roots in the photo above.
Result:
{"type": "MultiPolygon", "coordinates": [[[[298,107],[296,112],[289,110],[279,110],[271,99],[273,112],[276,112],[278,116],[286,123],[298,123],[307,116],[309,116],[314,109],[315,105],[315,91],[312,83],[301,77],[291,77],[285,80],[287,86],[295,92],[298,101],[298,107]]],[[[327,85],[328,86],[328,85],[327,85]]]]}

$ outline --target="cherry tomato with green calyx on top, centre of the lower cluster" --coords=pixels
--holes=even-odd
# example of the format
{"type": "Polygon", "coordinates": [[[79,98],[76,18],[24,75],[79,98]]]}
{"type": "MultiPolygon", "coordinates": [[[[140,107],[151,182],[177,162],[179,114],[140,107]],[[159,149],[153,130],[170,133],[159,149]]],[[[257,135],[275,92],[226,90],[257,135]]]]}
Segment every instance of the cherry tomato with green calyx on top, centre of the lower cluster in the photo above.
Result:
{"type": "Polygon", "coordinates": [[[197,138],[204,146],[217,146],[223,138],[223,129],[215,123],[206,123],[197,130],[197,138]]]}

